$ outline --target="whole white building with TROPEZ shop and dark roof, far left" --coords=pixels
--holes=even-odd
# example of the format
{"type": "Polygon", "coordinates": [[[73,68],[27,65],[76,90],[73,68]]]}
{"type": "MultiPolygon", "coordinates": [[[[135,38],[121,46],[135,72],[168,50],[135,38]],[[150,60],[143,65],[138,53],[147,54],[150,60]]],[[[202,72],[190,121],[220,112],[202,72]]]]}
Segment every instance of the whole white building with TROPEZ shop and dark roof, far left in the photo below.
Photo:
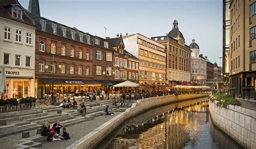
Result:
{"type": "MultiPolygon", "coordinates": [[[[6,98],[35,97],[33,20],[18,1],[0,1],[0,70],[6,71],[6,98]]],[[[1,82],[1,80],[0,80],[1,82]]]]}

